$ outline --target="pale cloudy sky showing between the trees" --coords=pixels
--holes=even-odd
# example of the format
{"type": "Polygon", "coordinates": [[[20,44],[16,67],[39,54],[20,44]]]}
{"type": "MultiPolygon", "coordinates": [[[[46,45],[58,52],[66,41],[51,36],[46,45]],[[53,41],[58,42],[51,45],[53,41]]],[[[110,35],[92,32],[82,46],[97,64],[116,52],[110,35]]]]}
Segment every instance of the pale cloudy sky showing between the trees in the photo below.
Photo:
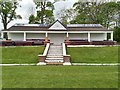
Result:
{"type": "MultiPolygon", "coordinates": [[[[50,1],[54,1],[54,0],[50,0],[50,1]]],[[[74,2],[76,2],[77,0],[65,0],[65,1],[59,1],[56,2],[54,4],[55,7],[55,11],[54,11],[54,15],[55,18],[57,19],[56,13],[59,12],[61,9],[63,8],[71,8],[72,5],[74,4],[74,2]]],[[[31,14],[35,14],[35,3],[33,2],[33,0],[20,0],[19,2],[20,6],[16,12],[18,15],[22,16],[22,20],[14,20],[11,21],[8,24],[8,28],[11,27],[12,25],[14,25],[15,23],[28,23],[28,18],[31,14]]],[[[0,23],[0,30],[3,29],[2,23],[0,23]]]]}

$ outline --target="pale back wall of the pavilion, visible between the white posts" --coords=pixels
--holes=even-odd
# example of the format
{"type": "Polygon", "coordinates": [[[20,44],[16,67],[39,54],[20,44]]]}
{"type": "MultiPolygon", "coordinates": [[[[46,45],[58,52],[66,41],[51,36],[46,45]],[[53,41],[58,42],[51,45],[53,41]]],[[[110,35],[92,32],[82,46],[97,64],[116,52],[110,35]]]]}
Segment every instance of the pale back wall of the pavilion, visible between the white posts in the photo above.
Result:
{"type": "MultiPolygon", "coordinates": [[[[12,40],[23,41],[24,33],[10,33],[12,40]]],[[[26,33],[26,39],[45,39],[45,33],[26,33]]],[[[65,33],[48,33],[48,39],[51,42],[63,43],[66,39],[65,33]]],[[[69,33],[69,39],[88,39],[87,33],[69,33]]],[[[91,41],[103,41],[106,40],[105,33],[90,33],[91,41]]]]}

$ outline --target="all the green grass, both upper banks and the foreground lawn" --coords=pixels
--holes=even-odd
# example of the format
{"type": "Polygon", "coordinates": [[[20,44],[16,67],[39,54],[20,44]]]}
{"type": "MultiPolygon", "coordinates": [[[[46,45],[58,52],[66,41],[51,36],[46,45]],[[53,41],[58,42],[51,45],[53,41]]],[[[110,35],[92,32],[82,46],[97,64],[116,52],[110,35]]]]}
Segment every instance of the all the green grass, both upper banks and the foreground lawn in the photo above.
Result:
{"type": "MultiPolygon", "coordinates": [[[[43,46],[2,48],[2,63],[37,63],[43,46]]],[[[118,47],[67,48],[72,62],[117,63],[118,47]]],[[[3,88],[117,88],[117,66],[2,67],[3,88]]]]}

